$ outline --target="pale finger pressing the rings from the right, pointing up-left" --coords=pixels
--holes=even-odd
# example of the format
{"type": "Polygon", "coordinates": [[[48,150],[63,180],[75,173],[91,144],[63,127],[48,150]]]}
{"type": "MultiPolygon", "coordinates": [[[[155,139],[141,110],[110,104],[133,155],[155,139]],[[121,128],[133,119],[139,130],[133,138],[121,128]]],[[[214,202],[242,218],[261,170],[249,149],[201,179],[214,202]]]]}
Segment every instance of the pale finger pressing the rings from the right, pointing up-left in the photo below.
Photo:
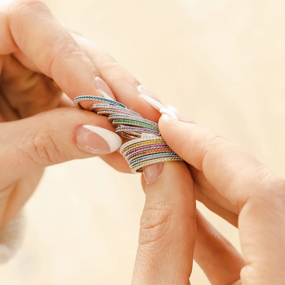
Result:
{"type": "Polygon", "coordinates": [[[233,205],[235,213],[260,190],[260,181],[265,186],[271,184],[270,172],[256,158],[199,125],[164,114],[159,129],[170,148],[202,171],[213,188],[233,205]]]}

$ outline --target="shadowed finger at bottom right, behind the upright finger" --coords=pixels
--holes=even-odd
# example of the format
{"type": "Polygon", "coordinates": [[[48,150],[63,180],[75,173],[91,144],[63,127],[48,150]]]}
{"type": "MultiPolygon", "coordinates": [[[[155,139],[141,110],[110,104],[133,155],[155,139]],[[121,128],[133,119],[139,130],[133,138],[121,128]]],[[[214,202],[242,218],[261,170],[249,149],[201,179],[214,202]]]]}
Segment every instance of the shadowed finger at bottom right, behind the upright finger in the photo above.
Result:
{"type": "Polygon", "coordinates": [[[196,224],[194,259],[211,284],[228,285],[238,280],[245,265],[243,257],[198,210],[196,224]]]}

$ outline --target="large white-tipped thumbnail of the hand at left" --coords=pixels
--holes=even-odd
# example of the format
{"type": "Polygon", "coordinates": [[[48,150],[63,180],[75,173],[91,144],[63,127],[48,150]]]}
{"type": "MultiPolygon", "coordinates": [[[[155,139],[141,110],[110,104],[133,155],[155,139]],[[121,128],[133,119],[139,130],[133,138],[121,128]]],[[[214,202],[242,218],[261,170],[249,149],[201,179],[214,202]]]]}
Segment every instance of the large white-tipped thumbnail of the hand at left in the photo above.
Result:
{"type": "Polygon", "coordinates": [[[81,150],[98,154],[113,152],[122,144],[116,133],[91,125],[82,125],[77,129],[76,141],[81,150]]]}

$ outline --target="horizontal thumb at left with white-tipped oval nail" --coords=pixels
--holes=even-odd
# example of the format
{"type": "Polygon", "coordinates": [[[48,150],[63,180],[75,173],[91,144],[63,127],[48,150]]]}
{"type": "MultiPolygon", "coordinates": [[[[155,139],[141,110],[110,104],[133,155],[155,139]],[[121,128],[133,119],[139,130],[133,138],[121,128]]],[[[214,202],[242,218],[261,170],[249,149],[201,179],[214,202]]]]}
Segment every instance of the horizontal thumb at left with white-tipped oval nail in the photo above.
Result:
{"type": "Polygon", "coordinates": [[[121,145],[106,117],[58,108],[0,124],[0,189],[39,167],[113,152],[121,145]]]}

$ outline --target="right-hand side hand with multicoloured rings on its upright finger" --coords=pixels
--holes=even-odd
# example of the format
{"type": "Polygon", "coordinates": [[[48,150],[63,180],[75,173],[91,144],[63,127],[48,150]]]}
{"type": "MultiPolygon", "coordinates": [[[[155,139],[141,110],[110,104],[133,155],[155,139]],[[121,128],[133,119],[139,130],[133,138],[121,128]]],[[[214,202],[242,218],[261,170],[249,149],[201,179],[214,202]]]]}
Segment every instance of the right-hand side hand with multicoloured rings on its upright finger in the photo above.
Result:
{"type": "Polygon", "coordinates": [[[160,132],[188,164],[144,170],[148,184],[143,179],[146,203],[132,284],[190,284],[193,258],[213,285],[284,284],[284,178],[225,138],[174,115],[180,121],[162,115],[160,132]],[[238,225],[243,256],[199,211],[195,218],[195,196],[238,225]]]}

